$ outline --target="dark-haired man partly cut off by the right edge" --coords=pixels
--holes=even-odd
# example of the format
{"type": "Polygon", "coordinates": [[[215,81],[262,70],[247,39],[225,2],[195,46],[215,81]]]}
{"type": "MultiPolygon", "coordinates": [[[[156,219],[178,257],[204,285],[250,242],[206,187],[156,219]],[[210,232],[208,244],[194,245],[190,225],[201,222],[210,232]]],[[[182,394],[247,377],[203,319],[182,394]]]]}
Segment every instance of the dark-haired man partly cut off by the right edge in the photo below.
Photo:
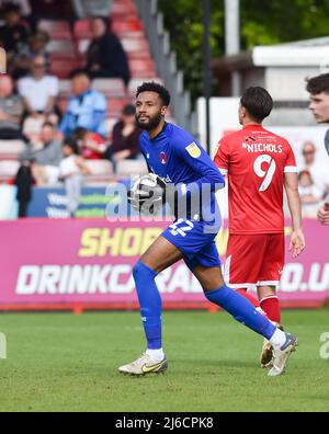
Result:
{"type": "MultiPolygon", "coordinates": [[[[309,110],[316,122],[329,123],[329,73],[308,79],[306,90],[310,94],[309,110]]],[[[329,156],[329,129],[325,137],[325,146],[329,156]]],[[[318,210],[318,220],[324,225],[329,225],[329,193],[325,198],[325,204],[318,210]]]]}

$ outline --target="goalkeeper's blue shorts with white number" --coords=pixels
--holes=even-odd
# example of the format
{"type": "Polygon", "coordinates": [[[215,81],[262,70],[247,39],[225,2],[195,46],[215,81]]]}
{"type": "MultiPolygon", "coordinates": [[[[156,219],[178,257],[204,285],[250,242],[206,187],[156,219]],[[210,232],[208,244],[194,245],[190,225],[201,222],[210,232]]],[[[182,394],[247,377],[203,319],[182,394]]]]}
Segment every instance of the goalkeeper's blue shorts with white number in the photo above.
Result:
{"type": "Polygon", "coordinates": [[[215,238],[220,227],[204,221],[179,219],[170,225],[161,236],[177,247],[184,255],[188,267],[193,271],[197,265],[220,266],[215,238]]]}

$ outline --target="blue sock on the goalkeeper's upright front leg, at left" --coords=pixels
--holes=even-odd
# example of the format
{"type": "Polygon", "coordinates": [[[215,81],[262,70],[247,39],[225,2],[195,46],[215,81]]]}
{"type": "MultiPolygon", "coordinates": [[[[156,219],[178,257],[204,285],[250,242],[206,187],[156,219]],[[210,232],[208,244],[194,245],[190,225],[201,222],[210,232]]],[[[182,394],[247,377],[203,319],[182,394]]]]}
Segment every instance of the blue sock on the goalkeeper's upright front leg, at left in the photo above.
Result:
{"type": "Polygon", "coordinates": [[[159,350],[162,347],[162,301],[155,282],[157,273],[141,262],[137,262],[134,266],[133,275],[140,306],[144,331],[147,339],[147,349],[159,350]]]}

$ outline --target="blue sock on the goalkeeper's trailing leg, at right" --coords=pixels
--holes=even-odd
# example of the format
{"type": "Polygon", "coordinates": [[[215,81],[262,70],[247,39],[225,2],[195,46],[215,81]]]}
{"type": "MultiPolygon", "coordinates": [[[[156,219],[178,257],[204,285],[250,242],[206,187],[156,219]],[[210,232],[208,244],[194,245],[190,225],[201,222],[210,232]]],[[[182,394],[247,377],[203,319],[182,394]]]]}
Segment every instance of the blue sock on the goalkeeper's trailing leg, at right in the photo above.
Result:
{"type": "Polygon", "coordinates": [[[205,292],[209,301],[227,310],[237,321],[242,322],[249,329],[263,335],[268,340],[272,338],[276,328],[258,312],[247,298],[224,285],[218,289],[205,292]]]}

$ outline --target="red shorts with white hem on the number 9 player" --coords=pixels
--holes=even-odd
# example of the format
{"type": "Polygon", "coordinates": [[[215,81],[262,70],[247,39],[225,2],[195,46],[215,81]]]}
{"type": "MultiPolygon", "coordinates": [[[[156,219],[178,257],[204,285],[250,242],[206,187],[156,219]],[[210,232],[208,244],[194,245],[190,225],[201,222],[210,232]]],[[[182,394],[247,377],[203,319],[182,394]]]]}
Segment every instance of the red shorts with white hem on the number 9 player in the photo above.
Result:
{"type": "Polygon", "coordinates": [[[232,288],[277,286],[284,265],[284,235],[230,235],[225,282],[232,288]]]}

